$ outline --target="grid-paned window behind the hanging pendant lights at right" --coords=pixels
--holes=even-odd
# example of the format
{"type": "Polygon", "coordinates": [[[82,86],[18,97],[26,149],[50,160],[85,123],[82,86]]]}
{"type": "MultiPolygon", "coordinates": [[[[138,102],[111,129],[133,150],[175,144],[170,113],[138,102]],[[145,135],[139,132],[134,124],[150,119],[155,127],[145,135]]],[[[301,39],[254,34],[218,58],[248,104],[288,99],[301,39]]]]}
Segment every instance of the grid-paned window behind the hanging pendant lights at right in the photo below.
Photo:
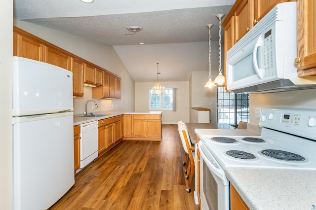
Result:
{"type": "Polygon", "coordinates": [[[235,94],[218,87],[217,106],[218,123],[237,126],[240,121],[249,122],[249,93],[235,94]]]}

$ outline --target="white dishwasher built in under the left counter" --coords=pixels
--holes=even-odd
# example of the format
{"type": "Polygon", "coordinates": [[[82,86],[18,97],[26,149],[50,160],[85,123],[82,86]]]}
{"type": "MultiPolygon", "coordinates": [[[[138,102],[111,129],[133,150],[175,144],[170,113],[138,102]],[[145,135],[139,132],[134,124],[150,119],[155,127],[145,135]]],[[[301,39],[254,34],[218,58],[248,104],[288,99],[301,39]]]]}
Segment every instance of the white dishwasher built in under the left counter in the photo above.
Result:
{"type": "Polygon", "coordinates": [[[80,171],[98,157],[98,121],[80,125],[80,171]]]}

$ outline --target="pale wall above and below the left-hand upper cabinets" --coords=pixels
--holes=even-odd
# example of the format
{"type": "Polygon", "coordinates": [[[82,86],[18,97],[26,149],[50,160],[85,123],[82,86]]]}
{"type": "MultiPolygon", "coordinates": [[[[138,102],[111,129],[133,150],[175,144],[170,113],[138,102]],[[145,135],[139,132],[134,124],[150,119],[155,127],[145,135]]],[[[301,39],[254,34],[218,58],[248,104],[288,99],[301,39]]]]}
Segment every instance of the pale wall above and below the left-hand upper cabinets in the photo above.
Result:
{"type": "MultiPolygon", "coordinates": [[[[23,21],[14,20],[14,25],[122,77],[121,99],[98,99],[96,100],[99,106],[97,111],[109,110],[111,105],[113,105],[113,110],[134,111],[134,80],[126,70],[113,46],[23,21]],[[107,108],[105,107],[106,105],[107,108]]],[[[91,99],[91,90],[89,87],[84,87],[84,97],[74,99],[75,114],[83,113],[82,109],[85,102],[91,99]]]]}

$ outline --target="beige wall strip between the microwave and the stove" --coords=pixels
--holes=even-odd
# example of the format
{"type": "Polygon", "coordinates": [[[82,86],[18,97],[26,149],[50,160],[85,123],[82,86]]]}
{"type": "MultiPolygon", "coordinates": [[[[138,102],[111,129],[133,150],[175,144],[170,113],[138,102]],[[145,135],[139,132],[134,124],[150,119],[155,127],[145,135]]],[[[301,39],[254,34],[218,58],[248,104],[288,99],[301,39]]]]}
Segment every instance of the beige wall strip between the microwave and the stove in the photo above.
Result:
{"type": "Polygon", "coordinates": [[[250,94],[250,123],[259,125],[255,108],[316,110],[316,89],[279,93],[250,94]]]}

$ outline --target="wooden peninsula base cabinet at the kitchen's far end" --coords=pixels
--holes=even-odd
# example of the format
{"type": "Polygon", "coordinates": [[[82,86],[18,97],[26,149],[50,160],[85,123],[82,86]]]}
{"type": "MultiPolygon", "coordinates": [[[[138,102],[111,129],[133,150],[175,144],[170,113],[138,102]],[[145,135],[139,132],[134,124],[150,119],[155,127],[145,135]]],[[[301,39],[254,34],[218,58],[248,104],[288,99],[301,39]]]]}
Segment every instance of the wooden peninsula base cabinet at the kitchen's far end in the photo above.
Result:
{"type": "Polygon", "coordinates": [[[161,140],[161,114],[124,114],[123,140],[161,140]]]}

